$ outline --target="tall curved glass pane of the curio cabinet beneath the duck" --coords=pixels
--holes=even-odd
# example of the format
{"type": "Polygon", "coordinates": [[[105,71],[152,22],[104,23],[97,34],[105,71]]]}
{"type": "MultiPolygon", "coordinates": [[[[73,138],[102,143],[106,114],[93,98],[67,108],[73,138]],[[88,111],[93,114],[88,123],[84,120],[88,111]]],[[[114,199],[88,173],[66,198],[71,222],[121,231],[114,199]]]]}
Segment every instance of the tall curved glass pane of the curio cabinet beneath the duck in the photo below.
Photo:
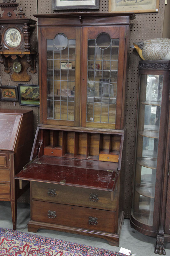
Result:
{"type": "Polygon", "coordinates": [[[162,75],[140,75],[133,215],[149,226],[153,225],[162,86],[162,75]]]}

